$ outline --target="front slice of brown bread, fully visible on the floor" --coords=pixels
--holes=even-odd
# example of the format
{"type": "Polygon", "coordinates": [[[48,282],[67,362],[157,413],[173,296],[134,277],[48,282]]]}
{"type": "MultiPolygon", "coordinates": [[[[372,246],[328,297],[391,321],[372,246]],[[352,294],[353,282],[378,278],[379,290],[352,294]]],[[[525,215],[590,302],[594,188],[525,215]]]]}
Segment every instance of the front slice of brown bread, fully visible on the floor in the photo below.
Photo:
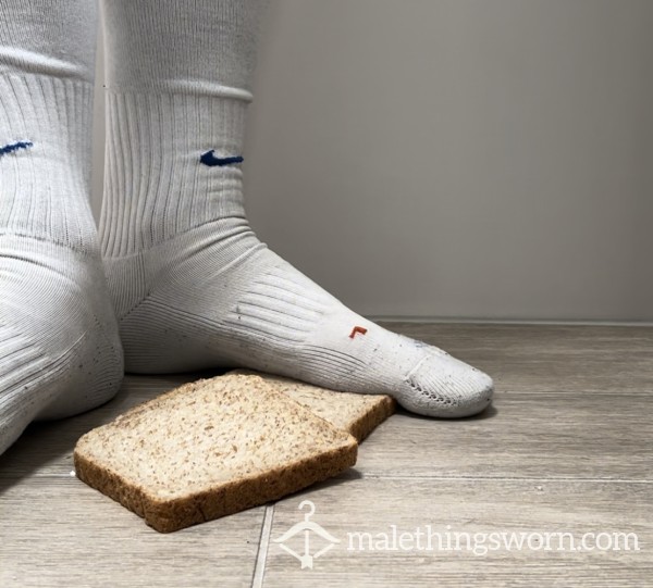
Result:
{"type": "Polygon", "coordinates": [[[356,463],[357,447],[260,378],[226,375],[90,430],[74,461],[79,479],[169,533],[337,475],[356,463]]]}

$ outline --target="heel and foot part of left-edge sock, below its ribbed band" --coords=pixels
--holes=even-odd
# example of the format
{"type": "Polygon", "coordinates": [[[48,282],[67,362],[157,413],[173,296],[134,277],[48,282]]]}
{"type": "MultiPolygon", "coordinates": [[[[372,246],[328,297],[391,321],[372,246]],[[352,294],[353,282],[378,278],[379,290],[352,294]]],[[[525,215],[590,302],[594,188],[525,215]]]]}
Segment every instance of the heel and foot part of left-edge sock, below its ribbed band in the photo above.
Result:
{"type": "Polygon", "coordinates": [[[123,356],[97,246],[0,233],[0,280],[2,453],[32,421],[112,398],[123,356]]]}

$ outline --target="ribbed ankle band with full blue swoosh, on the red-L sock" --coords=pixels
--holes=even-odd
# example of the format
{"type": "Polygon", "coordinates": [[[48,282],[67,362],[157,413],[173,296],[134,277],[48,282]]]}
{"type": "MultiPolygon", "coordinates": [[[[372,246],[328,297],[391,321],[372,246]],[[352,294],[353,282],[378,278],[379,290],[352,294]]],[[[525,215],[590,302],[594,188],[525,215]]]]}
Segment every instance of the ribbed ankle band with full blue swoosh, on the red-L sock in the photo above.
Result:
{"type": "Polygon", "coordinates": [[[239,161],[208,163],[242,157],[247,102],[108,91],[107,109],[106,257],[133,254],[211,221],[245,217],[239,161]]]}

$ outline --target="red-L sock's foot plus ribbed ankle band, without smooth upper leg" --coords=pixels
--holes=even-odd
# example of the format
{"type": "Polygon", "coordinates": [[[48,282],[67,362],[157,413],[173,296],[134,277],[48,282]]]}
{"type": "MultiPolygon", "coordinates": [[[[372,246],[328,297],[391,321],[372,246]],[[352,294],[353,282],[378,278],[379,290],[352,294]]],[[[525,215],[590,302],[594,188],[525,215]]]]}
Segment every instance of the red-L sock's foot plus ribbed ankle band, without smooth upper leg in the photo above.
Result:
{"type": "Polygon", "coordinates": [[[100,235],[127,371],[246,366],[335,390],[390,393],[431,416],[466,416],[489,404],[486,375],[352,312],[256,238],[241,164],[201,161],[211,149],[219,160],[241,153],[224,125],[242,121],[245,104],[115,92],[107,99],[114,132],[100,235]],[[120,140],[126,133],[139,146],[128,163],[120,140]],[[184,135],[183,149],[171,133],[184,135]],[[164,180],[148,167],[153,152],[165,164],[164,180]]]}

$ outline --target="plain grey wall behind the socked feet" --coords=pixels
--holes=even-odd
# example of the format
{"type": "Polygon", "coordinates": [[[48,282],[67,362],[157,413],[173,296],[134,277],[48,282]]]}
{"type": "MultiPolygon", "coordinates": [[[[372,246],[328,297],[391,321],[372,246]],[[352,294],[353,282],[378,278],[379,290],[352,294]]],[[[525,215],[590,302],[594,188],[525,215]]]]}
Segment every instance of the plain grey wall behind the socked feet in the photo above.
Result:
{"type": "Polygon", "coordinates": [[[651,0],[272,0],[251,223],[368,315],[653,320],[652,63],[651,0]]]}

